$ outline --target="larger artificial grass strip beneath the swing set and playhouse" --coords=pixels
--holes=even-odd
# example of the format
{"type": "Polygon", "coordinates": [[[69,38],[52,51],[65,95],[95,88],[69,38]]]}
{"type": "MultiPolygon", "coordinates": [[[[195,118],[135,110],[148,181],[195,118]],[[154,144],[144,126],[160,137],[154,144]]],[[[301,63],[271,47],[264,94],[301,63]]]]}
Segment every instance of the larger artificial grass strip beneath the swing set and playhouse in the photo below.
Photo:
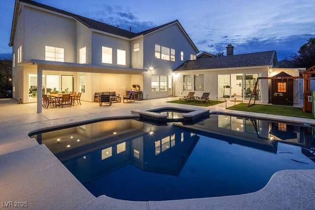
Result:
{"type": "Polygon", "coordinates": [[[274,106],[274,105],[263,105],[263,104],[255,104],[248,107],[247,103],[239,103],[239,104],[236,104],[235,106],[231,106],[226,109],[314,119],[312,113],[304,113],[303,109],[300,107],[274,106]]]}

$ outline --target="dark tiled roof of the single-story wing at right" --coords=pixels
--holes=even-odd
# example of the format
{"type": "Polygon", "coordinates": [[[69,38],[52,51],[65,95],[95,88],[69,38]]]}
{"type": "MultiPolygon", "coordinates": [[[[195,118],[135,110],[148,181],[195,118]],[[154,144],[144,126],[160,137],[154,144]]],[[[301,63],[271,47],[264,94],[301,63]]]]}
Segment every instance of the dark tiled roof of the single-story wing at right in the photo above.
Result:
{"type": "Polygon", "coordinates": [[[276,51],[188,60],[174,71],[277,65],[276,51]]]}

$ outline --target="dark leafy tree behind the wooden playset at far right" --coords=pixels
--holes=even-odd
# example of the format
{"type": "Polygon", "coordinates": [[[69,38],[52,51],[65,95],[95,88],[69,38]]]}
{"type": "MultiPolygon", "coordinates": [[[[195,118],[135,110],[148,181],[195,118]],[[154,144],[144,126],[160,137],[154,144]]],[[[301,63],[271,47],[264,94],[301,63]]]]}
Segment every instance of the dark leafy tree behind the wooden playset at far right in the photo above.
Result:
{"type": "Polygon", "coordinates": [[[292,57],[296,67],[310,68],[315,65],[315,38],[310,38],[302,45],[299,55],[292,57]]]}

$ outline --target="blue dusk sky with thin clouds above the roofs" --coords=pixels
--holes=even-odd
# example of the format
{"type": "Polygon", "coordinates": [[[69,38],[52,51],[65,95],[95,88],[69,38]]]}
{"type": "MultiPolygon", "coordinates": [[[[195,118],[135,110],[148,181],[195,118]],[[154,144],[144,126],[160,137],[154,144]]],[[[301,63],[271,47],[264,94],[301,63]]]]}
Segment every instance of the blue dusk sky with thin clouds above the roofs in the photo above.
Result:
{"type": "MultiPolygon", "coordinates": [[[[314,0],[36,0],[113,26],[140,32],[178,19],[200,52],[276,50],[290,59],[315,37],[314,0]]],[[[14,0],[0,1],[0,54],[8,47],[14,0]]]]}

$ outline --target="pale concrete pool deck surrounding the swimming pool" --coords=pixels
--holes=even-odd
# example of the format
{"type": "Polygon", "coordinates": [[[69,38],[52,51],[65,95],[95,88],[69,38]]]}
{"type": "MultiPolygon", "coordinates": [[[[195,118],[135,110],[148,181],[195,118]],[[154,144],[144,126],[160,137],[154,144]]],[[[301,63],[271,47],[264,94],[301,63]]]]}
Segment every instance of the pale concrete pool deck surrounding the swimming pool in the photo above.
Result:
{"type": "MultiPolygon", "coordinates": [[[[113,103],[112,106],[101,107],[98,103],[82,102],[81,106],[48,108],[43,109],[42,113],[36,113],[35,103],[18,104],[13,99],[0,99],[0,208],[16,209],[14,205],[27,202],[28,208],[35,210],[314,209],[315,170],[277,172],[263,189],[242,195],[149,202],[117,200],[104,195],[95,198],[45,145],[39,145],[27,135],[32,130],[81,121],[135,117],[136,114],[131,114],[131,110],[162,106],[191,108],[189,105],[165,103],[175,99],[113,103]]],[[[227,107],[233,105],[234,102],[226,102],[227,107]]],[[[313,119],[225,110],[225,103],[206,109],[211,113],[315,125],[313,119]]]]}

